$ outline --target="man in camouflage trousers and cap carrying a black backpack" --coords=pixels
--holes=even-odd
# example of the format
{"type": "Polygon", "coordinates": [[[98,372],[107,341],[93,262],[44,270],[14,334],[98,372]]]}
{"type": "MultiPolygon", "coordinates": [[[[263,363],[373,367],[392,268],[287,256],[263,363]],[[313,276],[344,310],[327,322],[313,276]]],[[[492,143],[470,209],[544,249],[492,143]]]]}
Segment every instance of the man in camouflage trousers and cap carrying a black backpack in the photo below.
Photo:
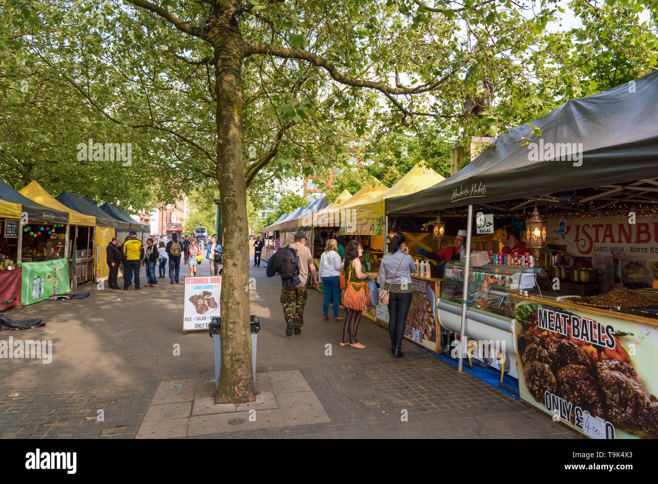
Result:
{"type": "Polygon", "coordinates": [[[304,325],[303,313],[306,304],[306,283],[309,272],[313,276],[313,287],[318,287],[315,264],[311,251],[305,245],[306,235],[295,233],[295,243],[282,247],[267,261],[267,276],[281,276],[281,305],[286,319],[286,336],[301,333],[304,325]]]}

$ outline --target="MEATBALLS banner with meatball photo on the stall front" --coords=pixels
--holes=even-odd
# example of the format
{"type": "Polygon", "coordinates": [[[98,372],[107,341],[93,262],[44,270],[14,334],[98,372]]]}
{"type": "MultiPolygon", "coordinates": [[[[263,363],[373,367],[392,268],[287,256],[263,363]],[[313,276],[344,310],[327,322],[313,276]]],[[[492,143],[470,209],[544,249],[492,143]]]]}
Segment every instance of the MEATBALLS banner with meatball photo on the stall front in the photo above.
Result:
{"type": "Polygon", "coordinates": [[[518,301],[522,400],[595,439],[658,438],[658,327],[518,301]]]}

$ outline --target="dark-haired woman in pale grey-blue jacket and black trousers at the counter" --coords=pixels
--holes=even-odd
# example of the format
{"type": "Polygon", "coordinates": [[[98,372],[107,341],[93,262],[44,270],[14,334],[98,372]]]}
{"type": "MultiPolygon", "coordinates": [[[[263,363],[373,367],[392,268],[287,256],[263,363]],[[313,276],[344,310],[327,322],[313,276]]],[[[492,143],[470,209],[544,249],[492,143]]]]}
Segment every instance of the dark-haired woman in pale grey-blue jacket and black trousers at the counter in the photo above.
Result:
{"type": "Polygon", "coordinates": [[[395,235],[388,245],[388,254],[382,257],[377,276],[380,287],[389,293],[388,334],[391,337],[391,352],[395,356],[405,356],[402,337],[413,295],[411,274],[415,273],[416,264],[409,255],[405,236],[395,235]]]}

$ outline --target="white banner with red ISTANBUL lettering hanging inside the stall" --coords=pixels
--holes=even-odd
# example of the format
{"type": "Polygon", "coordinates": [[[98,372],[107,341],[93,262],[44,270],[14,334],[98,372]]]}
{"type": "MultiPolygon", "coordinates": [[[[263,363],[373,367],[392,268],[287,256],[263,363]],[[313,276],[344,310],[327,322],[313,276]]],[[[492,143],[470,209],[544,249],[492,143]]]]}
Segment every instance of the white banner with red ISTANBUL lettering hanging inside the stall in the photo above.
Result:
{"type": "Polygon", "coordinates": [[[546,242],[563,245],[574,256],[611,252],[624,259],[658,260],[658,216],[550,219],[546,242]]]}

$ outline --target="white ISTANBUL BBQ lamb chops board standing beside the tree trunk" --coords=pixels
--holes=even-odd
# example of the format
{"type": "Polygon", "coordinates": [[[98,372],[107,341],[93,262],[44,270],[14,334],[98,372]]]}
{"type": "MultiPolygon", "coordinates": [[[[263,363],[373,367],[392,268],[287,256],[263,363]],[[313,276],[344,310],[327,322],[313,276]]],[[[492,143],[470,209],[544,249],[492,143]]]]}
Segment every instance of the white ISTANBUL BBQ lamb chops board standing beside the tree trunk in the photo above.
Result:
{"type": "Polygon", "coordinates": [[[222,276],[185,278],[183,331],[203,331],[219,316],[222,276]]]}

